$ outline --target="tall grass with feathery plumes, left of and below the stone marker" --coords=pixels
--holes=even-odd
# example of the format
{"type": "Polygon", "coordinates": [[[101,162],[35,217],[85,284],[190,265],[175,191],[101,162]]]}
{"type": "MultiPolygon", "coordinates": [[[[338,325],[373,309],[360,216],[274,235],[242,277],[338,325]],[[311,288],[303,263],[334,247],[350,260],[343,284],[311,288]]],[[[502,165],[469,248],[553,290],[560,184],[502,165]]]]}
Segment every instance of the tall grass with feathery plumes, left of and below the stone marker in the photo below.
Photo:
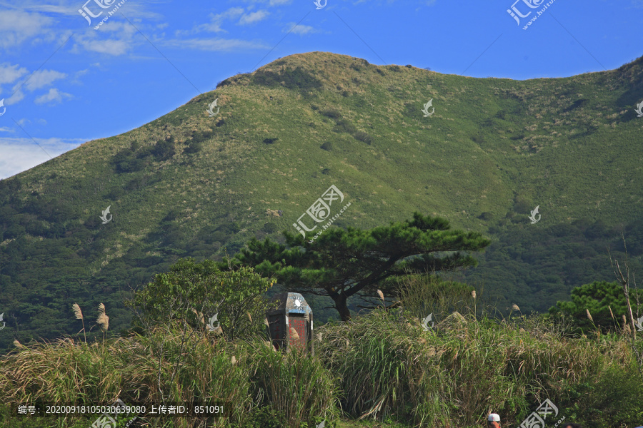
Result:
{"type": "MultiPolygon", "coordinates": [[[[337,384],[319,360],[296,351],[283,355],[258,338],[226,342],[194,335],[187,344],[183,339],[180,326],[164,326],[104,346],[66,339],[19,348],[0,361],[0,402],[225,402],[231,414],[209,427],[254,427],[251,414],[261,407],[283,414],[288,427],[337,417],[337,384]],[[161,340],[165,358],[159,360],[154,344],[161,340]]],[[[76,419],[64,419],[65,426],[76,419]]],[[[172,423],[205,426],[197,419],[172,423]]]]}

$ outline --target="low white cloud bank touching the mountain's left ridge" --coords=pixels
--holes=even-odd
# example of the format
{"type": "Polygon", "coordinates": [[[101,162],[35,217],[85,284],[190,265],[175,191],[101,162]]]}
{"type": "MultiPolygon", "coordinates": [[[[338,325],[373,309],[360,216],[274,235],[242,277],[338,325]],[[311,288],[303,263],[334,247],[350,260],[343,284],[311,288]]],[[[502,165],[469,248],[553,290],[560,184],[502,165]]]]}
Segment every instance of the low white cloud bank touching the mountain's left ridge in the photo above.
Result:
{"type": "Polygon", "coordinates": [[[37,144],[30,138],[0,138],[0,180],[49,161],[46,153],[56,157],[85,142],[79,138],[73,140],[34,138],[34,140],[37,144]]]}

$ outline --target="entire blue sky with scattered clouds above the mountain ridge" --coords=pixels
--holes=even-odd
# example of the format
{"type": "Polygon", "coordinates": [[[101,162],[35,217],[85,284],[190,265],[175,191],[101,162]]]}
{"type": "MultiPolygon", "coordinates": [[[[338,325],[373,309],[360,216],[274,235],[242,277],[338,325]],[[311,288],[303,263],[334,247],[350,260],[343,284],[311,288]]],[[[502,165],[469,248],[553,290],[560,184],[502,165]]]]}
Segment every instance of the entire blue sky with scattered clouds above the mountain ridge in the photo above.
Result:
{"type": "Polygon", "coordinates": [[[319,1],[0,0],[0,179],[291,54],[520,80],[643,55],[643,0],[319,1]]]}

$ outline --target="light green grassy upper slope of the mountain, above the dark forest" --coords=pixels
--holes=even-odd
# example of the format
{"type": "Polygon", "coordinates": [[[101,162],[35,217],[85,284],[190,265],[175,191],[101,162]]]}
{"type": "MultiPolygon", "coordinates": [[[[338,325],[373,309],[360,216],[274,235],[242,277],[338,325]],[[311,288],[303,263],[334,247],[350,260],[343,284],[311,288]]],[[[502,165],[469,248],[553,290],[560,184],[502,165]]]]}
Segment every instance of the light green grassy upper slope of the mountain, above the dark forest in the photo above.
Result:
{"type": "MultiPolygon", "coordinates": [[[[369,228],[421,210],[443,215],[456,228],[484,232],[491,222],[477,217],[487,212],[502,218],[517,198],[540,205],[543,221],[534,227],[582,217],[629,222],[643,207],[637,183],[643,119],[632,111],[643,98],[642,63],[512,81],[373,66],[321,52],[289,56],[234,76],[140,128],[85,143],[19,174],[21,190],[14,197],[54,201],[64,215],[42,221],[45,228],[66,230],[71,252],[62,264],[49,263],[48,239],[28,234],[22,243],[35,243],[43,255],[21,256],[20,270],[39,275],[47,287],[61,281],[74,260],[79,270],[86,268],[84,284],[94,291],[94,279],[137,246],[150,268],[161,270],[196,238],[205,244],[187,254],[213,257],[223,252],[219,245],[234,251],[251,236],[265,235],[266,223],[294,231],[291,224],[332,184],[352,203],[336,222],[343,227],[369,228]],[[301,66],[323,89],[254,83],[261,73],[286,66],[301,66]],[[214,98],[221,110],[209,118],[206,106],[214,98]],[[430,98],[435,113],[424,118],[420,110],[430,98]],[[339,118],[322,114],[328,110],[372,136],[372,144],[337,132],[339,118]],[[211,137],[198,153],[183,153],[194,132],[211,137]],[[156,158],[134,173],[116,173],[110,163],[134,141],[146,148],[170,136],[176,141],[171,158],[156,158]],[[278,140],[266,144],[266,138],[278,140]],[[321,149],[328,141],[332,150],[321,149]],[[107,205],[114,220],[101,225],[98,216],[107,205]],[[266,215],[267,209],[284,215],[266,215]],[[231,221],[239,233],[214,246],[204,238],[211,230],[204,228],[231,221]],[[74,241],[76,235],[81,239],[74,241]],[[179,251],[171,255],[168,248],[179,251]]],[[[0,219],[5,229],[11,224],[0,219]]],[[[5,250],[17,245],[20,251],[21,241],[6,237],[5,250]]],[[[118,280],[129,282],[128,275],[118,280]]],[[[29,298],[32,285],[12,282],[25,291],[12,299],[29,298]]],[[[114,290],[99,289],[94,297],[101,292],[114,290]]]]}

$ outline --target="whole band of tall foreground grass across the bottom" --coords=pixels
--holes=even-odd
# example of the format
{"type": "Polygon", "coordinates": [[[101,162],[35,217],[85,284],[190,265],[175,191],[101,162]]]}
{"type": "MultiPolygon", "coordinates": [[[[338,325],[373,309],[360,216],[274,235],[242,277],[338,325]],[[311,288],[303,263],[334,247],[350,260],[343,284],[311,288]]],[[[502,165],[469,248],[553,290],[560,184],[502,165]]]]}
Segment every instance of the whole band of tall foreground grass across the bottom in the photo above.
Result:
{"type": "MultiPolygon", "coordinates": [[[[242,281],[235,289],[244,287],[242,281]]],[[[304,428],[322,420],[327,427],[358,427],[358,418],[405,428],[471,428],[490,411],[517,426],[545,398],[565,422],[588,428],[634,426],[643,417],[643,377],[622,330],[571,337],[565,325],[542,316],[496,320],[470,287],[429,275],[409,276],[397,287],[402,299],[394,304],[385,306],[382,295],[382,307],[317,328],[314,355],[278,352],[252,329],[226,340],[173,317],[92,345],[16,343],[0,360],[1,422],[8,422],[11,404],[27,400],[116,397],[132,404],[216,400],[230,407],[228,417],[209,421],[139,419],[167,428],[206,422],[304,428]],[[436,323],[425,329],[427,302],[436,323]]],[[[643,348],[643,340],[637,346],[643,348]]],[[[81,428],[97,416],[14,418],[11,426],[81,428]]]]}

